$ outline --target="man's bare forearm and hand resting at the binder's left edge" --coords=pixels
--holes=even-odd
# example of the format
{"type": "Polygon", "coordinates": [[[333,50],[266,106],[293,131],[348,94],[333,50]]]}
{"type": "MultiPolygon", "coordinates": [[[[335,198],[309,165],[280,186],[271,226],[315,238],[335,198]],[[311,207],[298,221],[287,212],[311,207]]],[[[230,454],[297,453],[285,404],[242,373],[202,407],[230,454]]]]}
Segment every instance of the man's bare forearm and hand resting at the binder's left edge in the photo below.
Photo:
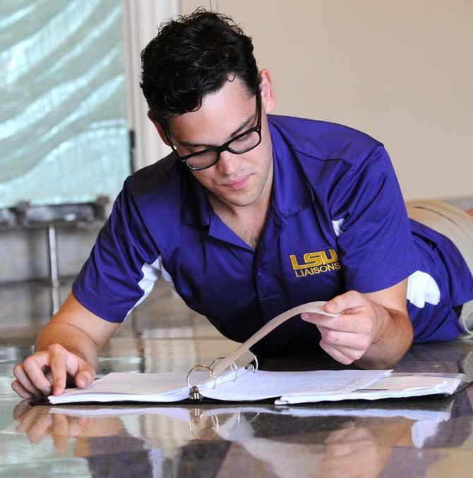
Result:
{"type": "Polygon", "coordinates": [[[35,353],[13,369],[11,387],[22,398],[60,395],[67,379],[83,388],[95,379],[100,349],[119,324],[86,309],[69,294],[37,338],[35,353]]]}

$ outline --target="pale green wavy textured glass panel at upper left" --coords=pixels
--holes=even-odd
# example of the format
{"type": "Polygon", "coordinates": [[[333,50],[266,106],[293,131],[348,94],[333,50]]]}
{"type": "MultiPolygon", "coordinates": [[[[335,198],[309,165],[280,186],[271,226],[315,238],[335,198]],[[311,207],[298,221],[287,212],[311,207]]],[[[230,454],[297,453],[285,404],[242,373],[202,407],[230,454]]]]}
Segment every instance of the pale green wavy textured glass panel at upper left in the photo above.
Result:
{"type": "Polygon", "coordinates": [[[0,1],[0,207],[114,198],[130,171],[121,2],[0,1]]]}

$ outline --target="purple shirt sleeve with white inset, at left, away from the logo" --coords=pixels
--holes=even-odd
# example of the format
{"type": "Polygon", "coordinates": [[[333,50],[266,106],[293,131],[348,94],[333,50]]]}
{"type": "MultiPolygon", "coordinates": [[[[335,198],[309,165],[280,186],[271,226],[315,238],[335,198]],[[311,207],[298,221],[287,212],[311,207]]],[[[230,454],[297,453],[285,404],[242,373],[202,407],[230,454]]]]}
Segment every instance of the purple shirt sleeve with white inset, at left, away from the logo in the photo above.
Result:
{"type": "Polygon", "coordinates": [[[72,286],[90,312],[121,322],[160,276],[160,254],[124,184],[72,286]]]}

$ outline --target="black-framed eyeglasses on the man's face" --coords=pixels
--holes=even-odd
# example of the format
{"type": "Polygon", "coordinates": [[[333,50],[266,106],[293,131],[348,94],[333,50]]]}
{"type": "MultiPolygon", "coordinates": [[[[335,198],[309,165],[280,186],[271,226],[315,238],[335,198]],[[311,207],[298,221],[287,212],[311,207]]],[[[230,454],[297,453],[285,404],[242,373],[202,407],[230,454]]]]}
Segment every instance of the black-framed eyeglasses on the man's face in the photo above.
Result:
{"type": "Polygon", "coordinates": [[[176,156],[183,162],[186,163],[187,167],[192,171],[200,171],[201,169],[210,168],[220,161],[220,154],[224,151],[229,151],[233,154],[243,154],[248,152],[250,149],[257,147],[261,143],[261,97],[258,92],[256,94],[256,109],[258,112],[258,121],[256,126],[250,128],[249,130],[232,137],[231,140],[227,141],[221,146],[215,146],[208,149],[203,149],[192,154],[186,154],[186,156],[180,156],[176,151],[176,148],[172,144],[172,141],[167,134],[167,131],[161,125],[164,135],[166,136],[171,149],[176,154],[176,156]]]}

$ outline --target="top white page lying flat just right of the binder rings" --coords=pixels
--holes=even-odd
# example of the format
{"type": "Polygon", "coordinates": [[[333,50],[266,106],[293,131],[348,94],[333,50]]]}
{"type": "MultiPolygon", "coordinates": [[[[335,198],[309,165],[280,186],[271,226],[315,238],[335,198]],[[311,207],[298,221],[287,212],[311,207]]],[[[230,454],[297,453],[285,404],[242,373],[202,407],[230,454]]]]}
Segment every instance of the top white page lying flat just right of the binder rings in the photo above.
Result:
{"type": "Polygon", "coordinates": [[[283,395],[349,393],[371,383],[389,370],[318,370],[316,372],[245,372],[215,389],[203,387],[205,397],[218,400],[262,400],[283,395]]]}

